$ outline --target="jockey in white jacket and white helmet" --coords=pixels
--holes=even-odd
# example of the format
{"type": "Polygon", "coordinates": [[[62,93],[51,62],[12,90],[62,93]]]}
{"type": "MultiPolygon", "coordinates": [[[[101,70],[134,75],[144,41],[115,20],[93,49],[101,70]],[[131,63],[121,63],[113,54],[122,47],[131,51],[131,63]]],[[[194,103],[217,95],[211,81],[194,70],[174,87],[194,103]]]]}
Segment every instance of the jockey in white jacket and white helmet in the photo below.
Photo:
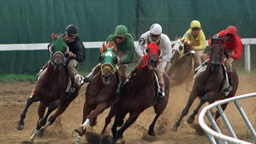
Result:
{"type": "Polygon", "coordinates": [[[138,46],[136,47],[136,52],[139,57],[143,57],[145,45],[149,43],[156,43],[161,50],[160,55],[160,64],[157,67],[156,73],[158,75],[160,90],[158,93],[158,100],[162,100],[165,97],[164,92],[164,79],[162,78],[162,74],[165,72],[165,66],[168,61],[172,58],[172,47],[171,41],[166,34],[162,33],[162,27],[158,23],[154,23],[150,30],[141,35],[138,41],[138,46]]]}

